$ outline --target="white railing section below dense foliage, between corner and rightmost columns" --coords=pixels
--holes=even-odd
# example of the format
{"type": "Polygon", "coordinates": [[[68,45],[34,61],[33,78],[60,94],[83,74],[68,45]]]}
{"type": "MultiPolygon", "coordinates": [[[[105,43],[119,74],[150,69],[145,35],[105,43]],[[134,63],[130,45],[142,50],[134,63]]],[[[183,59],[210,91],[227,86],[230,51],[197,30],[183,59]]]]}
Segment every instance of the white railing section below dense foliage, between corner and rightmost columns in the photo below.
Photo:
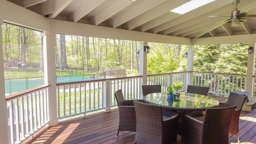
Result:
{"type": "Polygon", "coordinates": [[[212,94],[226,95],[234,91],[246,91],[246,75],[192,72],[192,85],[209,87],[212,94]]]}

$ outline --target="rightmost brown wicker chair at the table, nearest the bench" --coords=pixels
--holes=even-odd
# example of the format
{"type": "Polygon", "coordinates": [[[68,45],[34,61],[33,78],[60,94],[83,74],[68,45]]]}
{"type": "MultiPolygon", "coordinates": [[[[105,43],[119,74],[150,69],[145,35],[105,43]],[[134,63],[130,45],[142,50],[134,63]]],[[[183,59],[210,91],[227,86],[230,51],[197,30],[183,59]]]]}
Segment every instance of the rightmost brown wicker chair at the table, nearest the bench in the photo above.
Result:
{"type": "Polygon", "coordinates": [[[239,140],[239,116],[242,110],[242,107],[245,103],[246,97],[237,93],[230,92],[227,103],[219,103],[218,107],[228,107],[228,106],[236,106],[235,113],[231,119],[231,124],[229,127],[229,134],[236,135],[239,140]]]}

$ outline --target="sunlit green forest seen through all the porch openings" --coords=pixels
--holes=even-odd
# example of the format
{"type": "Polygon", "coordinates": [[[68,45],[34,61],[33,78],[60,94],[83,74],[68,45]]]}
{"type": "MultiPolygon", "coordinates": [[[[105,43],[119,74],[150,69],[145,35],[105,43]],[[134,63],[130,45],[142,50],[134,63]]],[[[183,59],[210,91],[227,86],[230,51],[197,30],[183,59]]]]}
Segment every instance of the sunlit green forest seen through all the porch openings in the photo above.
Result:
{"type": "MultiPolygon", "coordinates": [[[[43,71],[42,33],[14,25],[2,25],[5,68],[25,66],[43,71]]],[[[147,74],[186,71],[186,45],[149,43],[147,74]]],[[[198,45],[194,71],[246,74],[247,44],[198,45]]],[[[56,67],[121,67],[138,75],[138,41],[56,34],[56,67]]]]}

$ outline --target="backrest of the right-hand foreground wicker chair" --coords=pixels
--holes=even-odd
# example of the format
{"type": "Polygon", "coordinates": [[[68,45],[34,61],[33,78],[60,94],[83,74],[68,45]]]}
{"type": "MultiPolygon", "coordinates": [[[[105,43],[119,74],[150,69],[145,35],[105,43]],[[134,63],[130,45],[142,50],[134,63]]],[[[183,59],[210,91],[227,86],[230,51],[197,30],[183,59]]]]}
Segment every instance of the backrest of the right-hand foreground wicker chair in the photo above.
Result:
{"type": "Polygon", "coordinates": [[[228,131],[236,106],[225,108],[208,108],[202,133],[203,144],[228,144],[228,131]]]}

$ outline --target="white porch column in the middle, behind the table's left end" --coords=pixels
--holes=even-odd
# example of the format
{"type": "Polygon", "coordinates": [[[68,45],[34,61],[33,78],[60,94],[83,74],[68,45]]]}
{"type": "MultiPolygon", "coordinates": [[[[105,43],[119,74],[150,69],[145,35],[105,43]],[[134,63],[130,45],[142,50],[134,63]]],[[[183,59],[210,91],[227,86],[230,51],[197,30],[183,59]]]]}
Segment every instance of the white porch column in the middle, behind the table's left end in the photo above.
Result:
{"type": "Polygon", "coordinates": [[[144,46],[147,46],[148,42],[139,42],[139,75],[143,76],[140,80],[140,99],[143,99],[142,85],[147,84],[147,53],[144,51],[144,46]]]}

